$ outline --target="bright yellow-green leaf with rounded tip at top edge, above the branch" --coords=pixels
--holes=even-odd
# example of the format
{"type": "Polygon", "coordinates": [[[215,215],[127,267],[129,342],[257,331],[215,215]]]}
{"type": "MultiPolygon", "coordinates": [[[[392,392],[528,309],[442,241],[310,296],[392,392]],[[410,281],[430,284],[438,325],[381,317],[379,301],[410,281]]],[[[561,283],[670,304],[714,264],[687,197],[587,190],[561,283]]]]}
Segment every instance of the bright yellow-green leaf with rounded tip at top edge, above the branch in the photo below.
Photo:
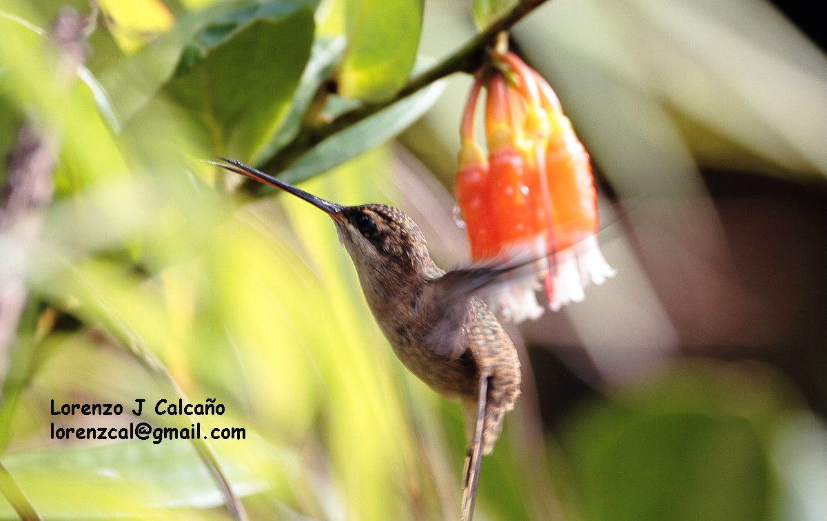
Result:
{"type": "Polygon", "coordinates": [[[347,51],[338,73],[344,97],[393,97],[414,67],[422,0],[347,0],[347,51]]]}

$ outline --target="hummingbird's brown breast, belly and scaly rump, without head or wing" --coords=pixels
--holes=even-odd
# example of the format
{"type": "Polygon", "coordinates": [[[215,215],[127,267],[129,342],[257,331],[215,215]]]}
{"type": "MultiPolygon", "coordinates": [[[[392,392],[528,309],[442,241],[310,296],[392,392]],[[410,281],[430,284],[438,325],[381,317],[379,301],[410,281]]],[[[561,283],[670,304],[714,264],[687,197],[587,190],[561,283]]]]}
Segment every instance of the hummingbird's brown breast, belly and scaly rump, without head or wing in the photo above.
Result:
{"type": "Polygon", "coordinates": [[[461,401],[469,437],[480,378],[488,379],[483,430],[487,454],[500,434],[505,412],[514,408],[520,392],[517,350],[478,297],[468,295],[467,300],[452,303],[461,305],[458,313],[443,313],[445,302],[438,294],[435,298],[431,293],[430,300],[423,301],[428,282],[444,275],[429,257],[426,260],[419,269],[408,271],[354,258],[366,301],[397,358],[434,391],[461,401]]]}

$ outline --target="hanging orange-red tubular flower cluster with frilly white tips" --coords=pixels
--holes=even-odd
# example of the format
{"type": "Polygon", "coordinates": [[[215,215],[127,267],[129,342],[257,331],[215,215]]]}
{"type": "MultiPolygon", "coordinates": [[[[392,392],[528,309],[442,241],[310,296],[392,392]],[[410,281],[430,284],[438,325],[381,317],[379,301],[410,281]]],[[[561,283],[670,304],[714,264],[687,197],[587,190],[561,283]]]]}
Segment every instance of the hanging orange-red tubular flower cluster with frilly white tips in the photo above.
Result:
{"type": "Polygon", "coordinates": [[[583,300],[589,282],[601,284],[614,270],[595,236],[597,192],[589,154],[557,96],[515,54],[495,60],[505,72],[487,73],[488,160],[473,135],[486,78],[480,74],[462,121],[455,192],[471,257],[520,268],[489,299],[506,320],[520,322],[543,312],[534,295],[539,281],[549,307],[558,310],[583,300]],[[527,269],[531,275],[523,277],[527,269]]]}

